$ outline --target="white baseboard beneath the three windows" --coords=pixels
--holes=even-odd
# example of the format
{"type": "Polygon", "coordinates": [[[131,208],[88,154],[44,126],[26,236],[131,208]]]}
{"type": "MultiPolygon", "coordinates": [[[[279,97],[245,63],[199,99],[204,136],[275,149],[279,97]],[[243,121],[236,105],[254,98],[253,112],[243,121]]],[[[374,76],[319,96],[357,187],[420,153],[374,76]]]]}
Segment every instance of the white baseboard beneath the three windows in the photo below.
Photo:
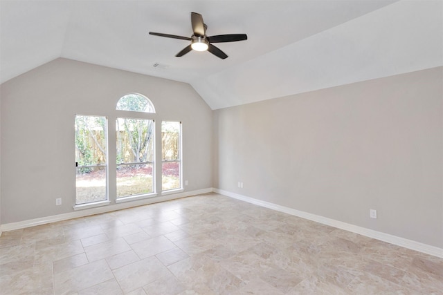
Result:
{"type": "Polygon", "coordinates": [[[1,225],[0,232],[2,231],[13,231],[15,229],[24,229],[26,227],[35,227],[36,225],[46,225],[47,223],[57,222],[62,220],[69,220],[73,218],[79,218],[84,216],[90,216],[100,213],[106,213],[111,211],[116,211],[120,209],[127,209],[131,207],[142,206],[145,204],[153,204],[157,202],[164,202],[169,200],[175,200],[179,198],[185,198],[189,196],[196,196],[202,193],[212,193],[213,188],[208,189],[199,189],[196,191],[184,191],[181,193],[168,194],[167,196],[160,196],[155,198],[147,198],[143,200],[134,200],[132,202],[124,202],[118,204],[110,204],[103,207],[93,207],[91,209],[84,209],[81,211],[73,211],[69,213],[58,214],[54,216],[46,216],[42,218],[35,218],[30,220],[23,220],[19,222],[10,222],[4,225],[1,225]]]}

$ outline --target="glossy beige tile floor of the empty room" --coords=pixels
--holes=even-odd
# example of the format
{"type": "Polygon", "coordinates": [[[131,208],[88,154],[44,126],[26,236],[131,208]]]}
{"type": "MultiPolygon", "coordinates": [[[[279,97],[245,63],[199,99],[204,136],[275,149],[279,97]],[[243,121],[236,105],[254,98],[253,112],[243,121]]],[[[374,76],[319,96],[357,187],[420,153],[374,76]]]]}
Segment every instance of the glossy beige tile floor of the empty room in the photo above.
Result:
{"type": "Polygon", "coordinates": [[[1,294],[443,294],[443,260],[211,193],[8,231],[1,294]]]}

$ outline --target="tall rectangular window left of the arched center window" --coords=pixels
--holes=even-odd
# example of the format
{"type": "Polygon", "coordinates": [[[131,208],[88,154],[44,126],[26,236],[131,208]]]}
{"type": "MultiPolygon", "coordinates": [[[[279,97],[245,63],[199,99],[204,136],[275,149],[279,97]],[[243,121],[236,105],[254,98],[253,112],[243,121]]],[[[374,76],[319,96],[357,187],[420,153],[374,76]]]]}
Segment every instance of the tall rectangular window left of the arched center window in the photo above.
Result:
{"type": "Polygon", "coordinates": [[[107,118],[75,116],[75,204],[107,197],[107,118]]]}

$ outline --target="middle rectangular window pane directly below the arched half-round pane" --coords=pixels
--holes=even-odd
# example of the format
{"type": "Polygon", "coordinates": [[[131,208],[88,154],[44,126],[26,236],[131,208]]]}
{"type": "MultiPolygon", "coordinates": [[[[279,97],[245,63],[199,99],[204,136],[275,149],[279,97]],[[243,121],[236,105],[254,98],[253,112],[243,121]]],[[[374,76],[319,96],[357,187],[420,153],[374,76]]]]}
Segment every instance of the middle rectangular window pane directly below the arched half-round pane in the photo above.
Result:
{"type": "Polygon", "coordinates": [[[154,121],[118,118],[117,198],[154,192],[154,121]]]}

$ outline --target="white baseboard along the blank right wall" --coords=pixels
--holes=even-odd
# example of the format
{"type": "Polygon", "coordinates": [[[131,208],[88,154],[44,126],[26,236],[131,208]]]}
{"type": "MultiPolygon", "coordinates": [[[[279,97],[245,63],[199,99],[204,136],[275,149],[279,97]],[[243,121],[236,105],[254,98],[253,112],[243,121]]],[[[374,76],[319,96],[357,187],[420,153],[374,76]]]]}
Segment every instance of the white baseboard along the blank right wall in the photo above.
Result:
{"type": "Polygon", "coordinates": [[[230,198],[235,198],[237,200],[242,200],[249,202],[251,204],[256,204],[261,207],[266,207],[283,213],[291,214],[293,216],[298,216],[308,220],[322,223],[323,225],[329,225],[331,227],[336,227],[338,229],[344,229],[345,231],[351,231],[355,234],[361,234],[362,236],[367,236],[369,238],[374,238],[377,240],[382,240],[383,242],[389,242],[390,244],[397,245],[400,247],[405,247],[411,250],[419,251],[432,256],[437,256],[443,258],[443,249],[439,247],[434,247],[431,245],[423,244],[422,242],[416,242],[415,240],[408,240],[406,238],[401,238],[398,236],[392,236],[390,234],[385,234],[381,231],[374,231],[373,229],[366,229],[365,227],[359,227],[356,225],[351,225],[350,223],[341,222],[331,218],[326,218],[323,216],[318,216],[312,213],[307,213],[304,211],[299,211],[289,207],[280,206],[278,204],[273,204],[271,202],[265,202],[262,200],[257,200],[254,198],[239,195],[238,193],[231,193],[230,191],[224,191],[222,189],[214,189],[215,193],[220,193],[221,195],[228,196],[230,198]]]}

